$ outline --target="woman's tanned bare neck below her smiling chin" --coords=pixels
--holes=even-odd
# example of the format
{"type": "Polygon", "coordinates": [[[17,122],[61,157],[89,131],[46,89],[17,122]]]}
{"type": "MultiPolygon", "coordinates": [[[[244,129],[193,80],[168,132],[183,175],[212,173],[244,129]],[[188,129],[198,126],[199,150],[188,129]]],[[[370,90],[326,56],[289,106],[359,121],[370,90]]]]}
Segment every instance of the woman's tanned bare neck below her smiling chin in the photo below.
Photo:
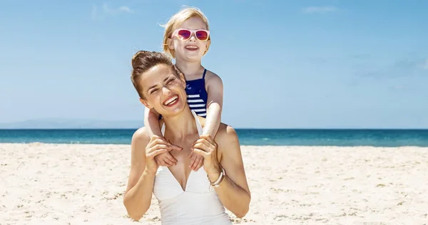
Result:
{"type": "Polygon", "coordinates": [[[198,133],[195,117],[187,105],[178,115],[163,117],[163,121],[165,122],[165,134],[168,134],[171,140],[183,140],[189,135],[198,133]]]}

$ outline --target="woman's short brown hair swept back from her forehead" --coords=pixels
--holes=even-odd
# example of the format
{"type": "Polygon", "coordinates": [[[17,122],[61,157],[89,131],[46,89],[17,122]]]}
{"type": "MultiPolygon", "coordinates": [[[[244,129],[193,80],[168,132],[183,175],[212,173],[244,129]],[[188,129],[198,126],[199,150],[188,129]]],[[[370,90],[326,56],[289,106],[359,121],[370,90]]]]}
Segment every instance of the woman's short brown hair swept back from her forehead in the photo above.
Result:
{"type": "Polygon", "coordinates": [[[176,68],[173,62],[170,60],[168,56],[165,56],[163,53],[159,53],[156,51],[138,51],[132,57],[132,73],[131,73],[131,81],[136,88],[138,95],[140,98],[144,99],[143,90],[141,90],[140,78],[143,73],[147,70],[153,68],[153,66],[157,66],[159,64],[163,64],[165,66],[170,66],[170,68],[175,73],[177,78],[180,78],[181,72],[176,68]]]}

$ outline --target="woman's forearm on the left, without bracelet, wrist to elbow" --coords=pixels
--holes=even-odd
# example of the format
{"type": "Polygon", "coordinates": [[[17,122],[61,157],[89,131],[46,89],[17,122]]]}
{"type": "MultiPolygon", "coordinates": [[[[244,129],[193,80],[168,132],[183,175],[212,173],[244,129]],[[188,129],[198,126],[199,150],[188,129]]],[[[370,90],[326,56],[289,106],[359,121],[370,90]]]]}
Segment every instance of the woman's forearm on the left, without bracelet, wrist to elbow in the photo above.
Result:
{"type": "Polygon", "coordinates": [[[149,172],[148,169],[144,169],[137,184],[123,197],[123,204],[128,215],[136,221],[143,217],[151,205],[155,174],[156,172],[149,172]]]}

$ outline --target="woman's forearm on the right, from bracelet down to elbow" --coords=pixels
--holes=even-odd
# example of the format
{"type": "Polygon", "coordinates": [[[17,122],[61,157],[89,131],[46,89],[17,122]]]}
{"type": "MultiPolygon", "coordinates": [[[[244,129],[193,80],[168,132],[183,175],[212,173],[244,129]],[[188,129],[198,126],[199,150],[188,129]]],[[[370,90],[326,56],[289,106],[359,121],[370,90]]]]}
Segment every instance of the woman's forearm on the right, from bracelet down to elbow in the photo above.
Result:
{"type": "MultiPolygon", "coordinates": [[[[218,177],[220,177],[220,172],[208,174],[211,182],[215,182],[218,177]]],[[[235,184],[227,175],[223,182],[221,182],[220,187],[215,187],[215,192],[217,192],[220,201],[226,209],[233,212],[235,216],[242,218],[248,213],[251,201],[250,193],[238,184],[235,184]]]]}

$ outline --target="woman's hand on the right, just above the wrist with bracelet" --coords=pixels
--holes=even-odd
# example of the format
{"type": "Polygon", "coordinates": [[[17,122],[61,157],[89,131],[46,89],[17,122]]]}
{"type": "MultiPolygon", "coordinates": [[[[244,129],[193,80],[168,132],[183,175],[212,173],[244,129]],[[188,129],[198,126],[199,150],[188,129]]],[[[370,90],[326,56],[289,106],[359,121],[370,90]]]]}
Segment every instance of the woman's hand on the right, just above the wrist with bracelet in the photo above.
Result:
{"type": "Polygon", "coordinates": [[[217,143],[210,135],[202,135],[195,142],[193,152],[203,157],[203,169],[208,175],[220,175],[220,163],[217,159],[217,143]]]}

